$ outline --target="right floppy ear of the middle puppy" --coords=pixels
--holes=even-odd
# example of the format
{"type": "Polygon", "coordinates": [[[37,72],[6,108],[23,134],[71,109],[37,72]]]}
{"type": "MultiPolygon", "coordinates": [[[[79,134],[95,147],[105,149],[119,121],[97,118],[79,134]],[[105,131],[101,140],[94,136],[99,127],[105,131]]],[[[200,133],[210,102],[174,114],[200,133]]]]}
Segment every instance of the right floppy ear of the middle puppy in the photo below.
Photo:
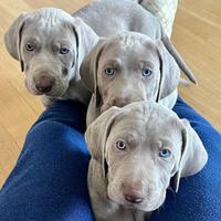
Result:
{"type": "Polygon", "coordinates": [[[157,102],[172,93],[179,83],[180,70],[177,62],[167,51],[164,43],[158,40],[158,55],[160,61],[160,80],[157,102]]]}

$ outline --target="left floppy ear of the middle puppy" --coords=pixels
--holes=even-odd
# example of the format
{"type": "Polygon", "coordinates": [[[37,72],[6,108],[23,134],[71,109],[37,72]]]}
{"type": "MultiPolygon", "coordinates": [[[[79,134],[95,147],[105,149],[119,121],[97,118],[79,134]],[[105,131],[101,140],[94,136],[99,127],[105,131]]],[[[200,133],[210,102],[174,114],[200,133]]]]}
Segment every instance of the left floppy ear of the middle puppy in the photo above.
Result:
{"type": "Polygon", "coordinates": [[[101,39],[90,54],[87,54],[80,67],[83,84],[95,95],[96,106],[99,105],[101,94],[97,87],[97,66],[106,39],[101,39]]]}

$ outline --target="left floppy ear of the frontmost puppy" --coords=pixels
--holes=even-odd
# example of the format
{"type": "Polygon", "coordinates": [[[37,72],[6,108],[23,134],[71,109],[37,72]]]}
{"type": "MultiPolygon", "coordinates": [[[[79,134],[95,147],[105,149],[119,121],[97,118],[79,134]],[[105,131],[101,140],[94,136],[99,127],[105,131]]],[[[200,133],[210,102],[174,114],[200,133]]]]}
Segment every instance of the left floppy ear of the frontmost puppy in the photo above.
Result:
{"type": "Polygon", "coordinates": [[[116,116],[122,112],[119,107],[110,107],[104,112],[96,120],[94,120],[86,129],[85,139],[88,146],[88,150],[92,158],[102,164],[104,175],[105,171],[105,154],[106,154],[106,141],[109,136],[109,131],[115,122],[116,116]]]}

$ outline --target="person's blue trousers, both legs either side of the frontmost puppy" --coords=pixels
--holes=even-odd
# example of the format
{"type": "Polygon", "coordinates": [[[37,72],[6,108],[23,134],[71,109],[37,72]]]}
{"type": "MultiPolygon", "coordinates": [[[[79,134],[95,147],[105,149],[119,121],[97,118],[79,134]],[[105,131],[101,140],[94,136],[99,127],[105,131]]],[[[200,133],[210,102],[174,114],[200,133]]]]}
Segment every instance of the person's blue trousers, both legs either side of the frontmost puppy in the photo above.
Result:
{"type": "MultiPolygon", "coordinates": [[[[181,98],[173,109],[190,120],[208,152],[198,175],[167,193],[152,221],[221,220],[221,135],[181,98]]],[[[27,135],[14,169],[0,191],[0,221],[92,221],[87,192],[90,155],[84,140],[86,109],[56,102],[27,135]]]]}

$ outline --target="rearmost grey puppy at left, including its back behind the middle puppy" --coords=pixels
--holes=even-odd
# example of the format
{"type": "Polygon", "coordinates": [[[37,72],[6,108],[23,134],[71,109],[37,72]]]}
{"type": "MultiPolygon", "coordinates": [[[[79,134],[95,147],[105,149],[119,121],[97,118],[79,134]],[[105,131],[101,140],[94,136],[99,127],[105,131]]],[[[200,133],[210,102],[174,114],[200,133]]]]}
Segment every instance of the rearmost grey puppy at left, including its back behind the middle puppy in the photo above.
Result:
{"type": "MultiPolygon", "coordinates": [[[[94,1],[73,17],[53,8],[22,13],[7,31],[4,42],[21,63],[29,92],[43,95],[45,106],[57,98],[88,104],[91,93],[83,87],[78,74],[82,60],[98,36],[125,31],[161,39],[176,54],[157,18],[130,0],[94,1]]],[[[183,65],[180,56],[176,60],[183,65]]],[[[190,72],[187,65],[183,69],[190,72]]]]}

